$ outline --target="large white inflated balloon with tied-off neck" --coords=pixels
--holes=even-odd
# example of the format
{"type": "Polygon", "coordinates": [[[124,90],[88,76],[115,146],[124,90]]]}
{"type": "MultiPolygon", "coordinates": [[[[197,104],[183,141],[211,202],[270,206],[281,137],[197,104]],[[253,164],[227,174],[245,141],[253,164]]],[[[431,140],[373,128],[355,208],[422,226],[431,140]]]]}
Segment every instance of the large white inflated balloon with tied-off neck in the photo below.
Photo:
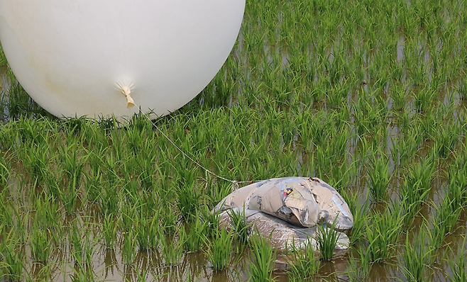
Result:
{"type": "Polygon", "coordinates": [[[58,117],[175,111],[219,71],[245,0],[0,0],[0,40],[58,117]]]}

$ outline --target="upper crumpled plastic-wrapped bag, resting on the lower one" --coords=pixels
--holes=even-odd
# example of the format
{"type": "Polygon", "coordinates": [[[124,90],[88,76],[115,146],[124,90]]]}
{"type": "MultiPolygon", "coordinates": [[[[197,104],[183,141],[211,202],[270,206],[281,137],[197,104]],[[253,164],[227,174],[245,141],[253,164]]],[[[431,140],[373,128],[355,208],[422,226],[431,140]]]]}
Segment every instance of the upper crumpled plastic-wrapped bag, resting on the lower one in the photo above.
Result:
{"type": "Polygon", "coordinates": [[[336,229],[353,226],[353,215],[336,191],[318,178],[287,177],[268,179],[244,186],[224,198],[214,210],[244,207],[273,215],[300,227],[313,227],[318,222],[336,229]]]}

